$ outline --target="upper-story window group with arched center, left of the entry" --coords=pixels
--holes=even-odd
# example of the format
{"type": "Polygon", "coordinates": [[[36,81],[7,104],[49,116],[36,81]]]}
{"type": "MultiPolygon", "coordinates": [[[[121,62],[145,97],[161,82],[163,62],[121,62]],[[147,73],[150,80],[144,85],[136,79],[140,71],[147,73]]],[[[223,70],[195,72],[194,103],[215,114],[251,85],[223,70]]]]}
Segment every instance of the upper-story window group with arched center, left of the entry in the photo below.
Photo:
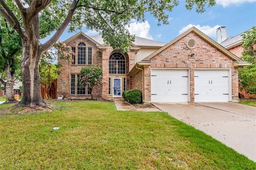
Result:
{"type": "Polygon", "coordinates": [[[80,42],[76,47],[71,47],[71,51],[73,52],[71,64],[92,65],[92,47],[86,48],[86,44],[80,42]]]}

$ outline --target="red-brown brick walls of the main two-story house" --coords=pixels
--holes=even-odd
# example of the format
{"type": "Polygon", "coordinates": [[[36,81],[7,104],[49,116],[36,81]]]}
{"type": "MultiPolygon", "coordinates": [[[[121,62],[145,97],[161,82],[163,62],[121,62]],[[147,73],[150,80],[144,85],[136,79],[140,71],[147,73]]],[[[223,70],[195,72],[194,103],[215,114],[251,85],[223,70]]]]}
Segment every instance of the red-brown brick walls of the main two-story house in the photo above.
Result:
{"type": "MultiPolygon", "coordinates": [[[[238,100],[238,72],[237,68],[233,66],[233,60],[223,54],[218,48],[208,43],[205,39],[196,35],[193,31],[150,58],[150,65],[144,65],[143,71],[139,70],[131,77],[128,77],[127,73],[132,70],[135,64],[135,51],[129,50],[127,54],[124,54],[126,74],[109,74],[109,56],[111,53],[115,52],[115,50],[110,46],[101,46],[99,48],[95,43],[83,35],[77,36],[75,39],[69,41],[67,45],[76,47],[79,42],[85,43],[86,47],[92,47],[92,64],[102,68],[102,86],[94,88],[94,97],[103,99],[113,98],[113,79],[120,78],[122,82],[122,92],[125,89],[139,89],[141,91],[143,89],[143,100],[150,101],[151,68],[183,68],[189,69],[190,71],[190,101],[193,102],[195,89],[194,72],[195,69],[203,68],[231,70],[231,97],[233,101],[238,100]],[[190,49],[187,47],[189,39],[193,39],[196,42],[195,48],[190,49]],[[124,83],[126,86],[124,86],[124,83]]],[[[58,95],[64,95],[66,98],[91,97],[91,95],[70,95],[70,74],[78,74],[79,71],[87,65],[71,65],[70,62],[65,60],[59,60],[58,63],[62,65],[58,78],[58,95]]],[[[77,90],[76,86],[75,91],[77,90]]]]}

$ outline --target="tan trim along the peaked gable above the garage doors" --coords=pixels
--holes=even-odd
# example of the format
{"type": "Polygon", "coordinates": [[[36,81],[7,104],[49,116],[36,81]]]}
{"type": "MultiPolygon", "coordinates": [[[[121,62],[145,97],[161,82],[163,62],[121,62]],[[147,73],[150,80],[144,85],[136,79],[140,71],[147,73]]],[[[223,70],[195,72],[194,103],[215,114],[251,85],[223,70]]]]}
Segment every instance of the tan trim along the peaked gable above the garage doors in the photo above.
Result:
{"type": "Polygon", "coordinates": [[[174,44],[176,41],[178,41],[179,39],[181,39],[182,37],[186,36],[189,32],[195,32],[196,35],[198,35],[199,37],[203,38],[205,41],[207,41],[208,43],[210,43],[212,46],[214,46],[215,48],[219,49],[222,53],[226,54],[228,57],[230,57],[232,60],[234,61],[242,61],[239,57],[237,57],[235,54],[229,52],[229,50],[227,50],[226,48],[222,47],[220,44],[218,44],[216,41],[214,41],[213,39],[211,39],[210,37],[206,36],[203,32],[199,31],[197,28],[195,27],[191,27],[190,29],[188,29],[187,31],[183,32],[181,35],[179,35],[178,37],[176,37],[175,39],[173,39],[172,41],[170,41],[169,43],[167,43],[166,45],[164,45],[162,48],[156,50],[156,52],[150,54],[149,56],[147,56],[146,58],[144,58],[142,61],[145,60],[149,60],[150,58],[154,57],[155,55],[157,55],[158,53],[162,52],[164,49],[166,49],[167,47],[171,46],[172,44],[174,44]]]}

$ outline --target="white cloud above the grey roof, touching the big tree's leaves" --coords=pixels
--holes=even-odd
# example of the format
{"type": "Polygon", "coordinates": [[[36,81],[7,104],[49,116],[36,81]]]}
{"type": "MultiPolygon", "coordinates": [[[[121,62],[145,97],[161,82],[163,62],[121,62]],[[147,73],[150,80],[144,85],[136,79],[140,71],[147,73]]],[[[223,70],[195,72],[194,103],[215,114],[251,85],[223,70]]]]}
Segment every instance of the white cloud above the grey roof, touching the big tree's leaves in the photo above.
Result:
{"type": "Polygon", "coordinates": [[[132,22],[129,24],[129,27],[127,27],[127,29],[130,33],[135,34],[138,37],[153,39],[153,37],[149,33],[150,24],[148,23],[148,21],[132,22]]]}

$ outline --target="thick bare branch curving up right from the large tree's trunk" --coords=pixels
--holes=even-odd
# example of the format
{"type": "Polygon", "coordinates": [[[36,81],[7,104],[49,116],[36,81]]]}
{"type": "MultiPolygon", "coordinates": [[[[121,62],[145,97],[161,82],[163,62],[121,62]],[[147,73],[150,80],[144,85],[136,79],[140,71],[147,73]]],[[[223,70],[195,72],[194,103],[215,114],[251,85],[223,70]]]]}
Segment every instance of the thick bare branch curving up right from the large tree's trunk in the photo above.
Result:
{"type": "Polygon", "coordinates": [[[76,10],[76,5],[78,4],[78,2],[79,2],[79,0],[73,1],[65,20],[62,22],[62,24],[60,25],[58,30],[54,33],[54,35],[48,41],[46,41],[43,45],[41,45],[41,47],[39,48],[39,54],[42,54],[43,52],[45,52],[47,49],[51,48],[57,42],[57,40],[60,38],[62,33],[67,28],[69,22],[71,21],[73,14],[76,10]]]}

